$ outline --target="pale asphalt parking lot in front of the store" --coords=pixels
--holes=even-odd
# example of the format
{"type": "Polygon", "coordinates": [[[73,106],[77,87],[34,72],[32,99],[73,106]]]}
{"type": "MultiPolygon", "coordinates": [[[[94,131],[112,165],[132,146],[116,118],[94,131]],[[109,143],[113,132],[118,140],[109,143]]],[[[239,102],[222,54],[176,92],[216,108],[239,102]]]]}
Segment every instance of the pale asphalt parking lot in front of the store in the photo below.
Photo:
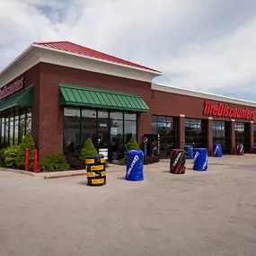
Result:
{"type": "Polygon", "coordinates": [[[256,155],[209,158],[207,172],[146,166],[43,180],[0,172],[0,255],[255,255],[256,155]]]}

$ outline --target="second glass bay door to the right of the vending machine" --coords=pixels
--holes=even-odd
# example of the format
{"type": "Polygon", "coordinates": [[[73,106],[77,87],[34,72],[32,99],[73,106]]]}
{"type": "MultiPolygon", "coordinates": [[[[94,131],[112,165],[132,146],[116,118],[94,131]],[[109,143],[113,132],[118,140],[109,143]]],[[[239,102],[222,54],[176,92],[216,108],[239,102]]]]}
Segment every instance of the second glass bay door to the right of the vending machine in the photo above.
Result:
{"type": "Polygon", "coordinates": [[[207,147],[206,120],[185,119],[185,144],[207,147]]]}

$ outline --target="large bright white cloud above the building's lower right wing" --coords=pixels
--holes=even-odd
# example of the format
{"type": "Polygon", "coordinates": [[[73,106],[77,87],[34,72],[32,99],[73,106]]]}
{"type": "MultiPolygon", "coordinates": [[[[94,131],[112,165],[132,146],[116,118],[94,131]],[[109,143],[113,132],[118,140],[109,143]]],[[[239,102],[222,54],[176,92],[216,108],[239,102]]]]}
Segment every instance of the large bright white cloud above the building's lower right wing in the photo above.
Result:
{"type": "MultiPolygon", "coordinates": [[[[239,92],[256,82],[256,17],[220,38],[190,44],[170,55],[164,66],[176,76],[175,84],[200,90],[229,89],[239,92]]],[[[168,73],[168,70],[165,70],[168,73]]]]}

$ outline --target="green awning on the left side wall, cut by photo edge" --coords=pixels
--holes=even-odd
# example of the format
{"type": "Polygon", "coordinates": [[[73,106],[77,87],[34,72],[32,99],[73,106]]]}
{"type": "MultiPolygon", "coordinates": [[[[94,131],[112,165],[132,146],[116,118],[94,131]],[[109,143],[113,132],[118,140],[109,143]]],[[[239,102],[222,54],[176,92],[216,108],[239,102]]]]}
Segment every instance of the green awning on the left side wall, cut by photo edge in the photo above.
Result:
{"type": "Polygon", "coordinates": [[[33,85],[15,93],[0,102],[0,112],[13,107],[32,107],[33,85]]]}

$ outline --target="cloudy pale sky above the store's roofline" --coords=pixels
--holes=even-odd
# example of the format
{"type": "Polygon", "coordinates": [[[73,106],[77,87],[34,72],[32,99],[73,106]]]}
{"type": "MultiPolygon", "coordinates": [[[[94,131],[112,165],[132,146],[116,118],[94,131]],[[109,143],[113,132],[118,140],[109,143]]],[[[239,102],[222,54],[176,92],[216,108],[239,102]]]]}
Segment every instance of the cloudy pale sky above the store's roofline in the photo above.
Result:
{"type": "Polygon", "coordinates": [[[256,0],[0,0],[0,70],[69,40],[163,72],[160,84],[256,102],[256,0]]]}

